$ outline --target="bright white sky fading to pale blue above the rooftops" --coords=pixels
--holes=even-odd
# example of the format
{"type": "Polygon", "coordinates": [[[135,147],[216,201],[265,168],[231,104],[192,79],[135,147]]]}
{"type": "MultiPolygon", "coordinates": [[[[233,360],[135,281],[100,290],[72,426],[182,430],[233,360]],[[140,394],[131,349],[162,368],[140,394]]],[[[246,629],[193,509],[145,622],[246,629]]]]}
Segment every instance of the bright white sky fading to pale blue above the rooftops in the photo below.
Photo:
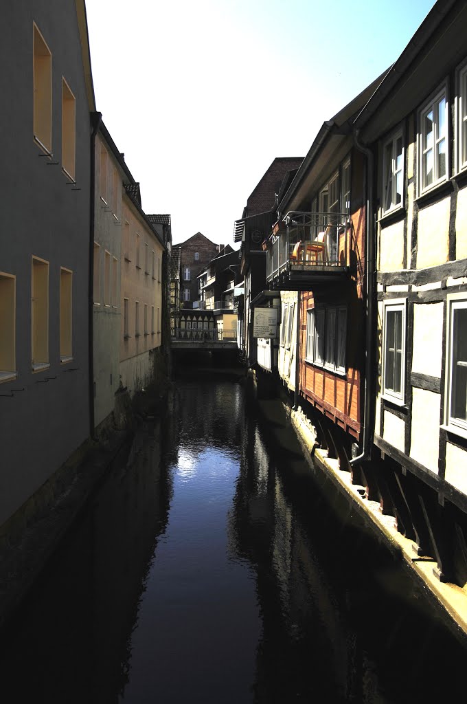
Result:
{"type": "Polygon", "coordinates": [[[232,242],[276,156],[388,68],[433,0],[87,0],[96,106],[174,243],[232,242]]]}

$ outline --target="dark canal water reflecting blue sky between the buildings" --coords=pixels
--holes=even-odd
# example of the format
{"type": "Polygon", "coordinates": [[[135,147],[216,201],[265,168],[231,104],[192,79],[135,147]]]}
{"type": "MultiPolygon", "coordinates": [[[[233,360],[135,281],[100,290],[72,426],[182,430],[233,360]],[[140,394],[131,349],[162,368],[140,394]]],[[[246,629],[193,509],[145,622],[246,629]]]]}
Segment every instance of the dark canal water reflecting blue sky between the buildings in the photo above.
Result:
{"type": "Polygon", "coordinates": [[[1,703],[465,700],[466,650],[263,410],[177,381],[1,634],[1,703]]]}

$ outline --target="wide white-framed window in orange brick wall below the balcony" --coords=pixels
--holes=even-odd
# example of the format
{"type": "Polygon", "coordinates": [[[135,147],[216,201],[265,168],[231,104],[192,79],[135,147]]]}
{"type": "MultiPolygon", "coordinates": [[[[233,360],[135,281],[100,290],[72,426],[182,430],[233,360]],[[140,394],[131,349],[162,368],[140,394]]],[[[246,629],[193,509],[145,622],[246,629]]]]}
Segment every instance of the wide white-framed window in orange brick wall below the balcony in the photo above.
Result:
{"type": "Polygon", "coordinates": [[[333,306],[307,310],[308,362],[345,374],[347,308],[333,306]]]}

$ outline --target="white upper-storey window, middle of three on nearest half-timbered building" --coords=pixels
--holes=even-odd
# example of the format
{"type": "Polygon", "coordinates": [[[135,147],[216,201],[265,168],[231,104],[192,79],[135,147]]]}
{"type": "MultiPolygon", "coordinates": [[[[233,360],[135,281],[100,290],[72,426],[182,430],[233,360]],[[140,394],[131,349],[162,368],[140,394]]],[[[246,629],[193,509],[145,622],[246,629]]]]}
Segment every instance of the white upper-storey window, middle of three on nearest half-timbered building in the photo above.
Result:
{"type": "Polygon", "coordinates": [[[418,194],[447,178],[447,100],[442,89],[419,114],[418,194]]]}

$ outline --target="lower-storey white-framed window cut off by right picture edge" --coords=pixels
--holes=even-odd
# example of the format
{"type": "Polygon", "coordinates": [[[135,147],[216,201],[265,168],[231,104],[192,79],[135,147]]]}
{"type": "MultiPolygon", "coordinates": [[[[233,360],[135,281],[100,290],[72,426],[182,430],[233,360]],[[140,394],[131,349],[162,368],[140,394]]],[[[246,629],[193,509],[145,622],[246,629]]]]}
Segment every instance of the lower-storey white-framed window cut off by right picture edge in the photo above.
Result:
{"type": "Polygon", "coordinates": [[[467,298],[448,296],[447,425],[467,431],[467,298]]]}

